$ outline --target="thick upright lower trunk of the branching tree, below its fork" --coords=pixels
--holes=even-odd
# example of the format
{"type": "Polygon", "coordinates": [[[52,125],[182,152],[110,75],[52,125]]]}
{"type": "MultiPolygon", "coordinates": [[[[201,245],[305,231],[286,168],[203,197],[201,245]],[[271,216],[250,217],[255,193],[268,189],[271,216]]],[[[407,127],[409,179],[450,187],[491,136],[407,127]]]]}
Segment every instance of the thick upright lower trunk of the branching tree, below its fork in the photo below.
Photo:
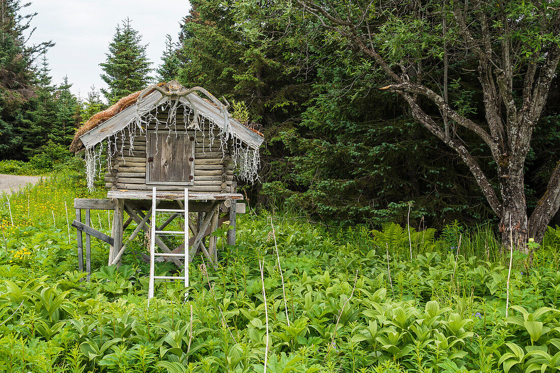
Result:
{"type": "MultiPolygon", "coordinates": [[[[503,160],[502,162],[507,162],[503,160]]],[[[527,241],[529,239],[529,217],[527,216],[527,203],[523,177],[523,163],[516,162],[508,167],[498,166],[502,194],[502,214],[500,220],[500,233],[502,243],[510,250],[514,249],[528,254],[527,241]]]]}

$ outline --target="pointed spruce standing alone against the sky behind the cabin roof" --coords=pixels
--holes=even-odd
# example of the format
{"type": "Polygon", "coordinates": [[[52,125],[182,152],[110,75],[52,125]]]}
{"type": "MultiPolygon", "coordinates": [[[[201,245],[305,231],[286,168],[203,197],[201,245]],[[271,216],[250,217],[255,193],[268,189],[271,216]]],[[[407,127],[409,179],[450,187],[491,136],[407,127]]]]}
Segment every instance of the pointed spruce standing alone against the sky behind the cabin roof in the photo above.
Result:
{"type": "Polygon", "coordinates": [[[122,27],[116,26],[107,59],[99,64],[105,72],[101,79],[109,86],[108,90],[101,88],[101,92],[110,104],[140,90],[152,80],[148,76],[152,68],[146,58],[147,45],[142,45],[141,41],[142,36],[130,26],[128,18],[122,27]]]}

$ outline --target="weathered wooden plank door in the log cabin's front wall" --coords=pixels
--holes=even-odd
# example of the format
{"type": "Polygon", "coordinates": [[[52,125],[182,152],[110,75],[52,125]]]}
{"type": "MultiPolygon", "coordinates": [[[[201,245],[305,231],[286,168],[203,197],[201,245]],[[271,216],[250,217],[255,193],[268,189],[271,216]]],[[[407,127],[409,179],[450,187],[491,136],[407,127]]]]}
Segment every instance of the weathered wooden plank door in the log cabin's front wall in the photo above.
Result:
{"type": "Polygon", "coordinates": [[[194,138],[190,134],[148,133],[148,184],[192,185],[194,138]]]}

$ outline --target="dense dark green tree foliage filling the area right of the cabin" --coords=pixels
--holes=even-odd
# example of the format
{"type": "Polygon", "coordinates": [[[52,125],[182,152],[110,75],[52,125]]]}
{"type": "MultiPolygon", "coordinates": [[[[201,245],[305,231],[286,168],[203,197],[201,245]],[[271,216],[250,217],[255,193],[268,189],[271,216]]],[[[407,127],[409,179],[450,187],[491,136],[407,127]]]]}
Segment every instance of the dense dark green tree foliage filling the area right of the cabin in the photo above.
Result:
{"type": "MultiPolygon", "coordinates": [[[[461,115],[486,126],[477,64],[457,47],[459,36],[451,17],[446,36],[442,34],[445,3],[418,4],[421,14],[433,15],[422,19],[402,4],[358,3],[360,7],[333,7],[340,7],[340,14],[349,11],[355,19],[360,19],[360,11],[370,10],[358,32],[366,34],[366,24],[375,27],[372,43],[391,66],[402,65],[411,81],[420,79],[438,93],[447,41],[449,53],[454,53],[449,102],[461,115]],[[422,76],[420,65],[426,71],[422,76]]],[[[519,15],[515,38],[524,50],[556,39],[534,34],[534,4],[507,5],[506,12],[519,15]]],[[[494,4],[481,6],[498,16],[500,8],[494,4]]],[[[164,55],[174,63],[169,76],[246,105],[249,115],[242,120],[263,124],[267,147],[262,184],[247,188],[251,200],[267,208],[297,206],[315,220],[337,226],[369,222],[379,229],[395,221],[442,229],[454,220],[469,226],[496,221],[460,157],[414,123],[396,94],[379,91],[386,85],[381,69],[349,48],[338,33],[324,30],[297,3],[195,1],[184,18],[178,45],[164,55]]],[[[522,57],[515,71],[521,73],[531,58],[535,57],[522,57]]],[[[526,166],[529,208],[546,189],[560,158],[554,146],[560,134],[559,108],[554,104],[560,102],[557,80],[552,84],[526,166]]],[[[435,118],[440,114],[433,108],[428,113],[435,118]]],[[[451,132],[472,150],[487,175],[495,175],[495,162],[477,137],[455,125],[451,132]]]]}

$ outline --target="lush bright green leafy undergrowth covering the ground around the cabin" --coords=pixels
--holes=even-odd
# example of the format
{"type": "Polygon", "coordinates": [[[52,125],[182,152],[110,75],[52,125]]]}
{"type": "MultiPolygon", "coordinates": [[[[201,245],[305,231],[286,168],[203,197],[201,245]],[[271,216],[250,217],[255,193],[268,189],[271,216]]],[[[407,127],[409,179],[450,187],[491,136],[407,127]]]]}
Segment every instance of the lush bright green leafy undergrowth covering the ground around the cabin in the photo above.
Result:
{"type": "MultiPolygon", "coordinates": [[[[106,267],[96,240],[91,282],[81,281],[68,222],[86,195],[67,173],[10,206],[4,197],[1,371],[264,372],[267,346],[267,372],[559,369],[558,229],[532,261],[516,255],[507,289],[506,254],[486,226],[331,231],[261,211],[239,218],[235,247],[218,232],[217,269],[196,258],[190,287],[160,284],[148,304],[148,264],[127,254],[106,267]]],[[[108,233],[110,215],[96,215],[108,233]]],[[[164,263],[157,272],[179,274],[164,263]]]]}

